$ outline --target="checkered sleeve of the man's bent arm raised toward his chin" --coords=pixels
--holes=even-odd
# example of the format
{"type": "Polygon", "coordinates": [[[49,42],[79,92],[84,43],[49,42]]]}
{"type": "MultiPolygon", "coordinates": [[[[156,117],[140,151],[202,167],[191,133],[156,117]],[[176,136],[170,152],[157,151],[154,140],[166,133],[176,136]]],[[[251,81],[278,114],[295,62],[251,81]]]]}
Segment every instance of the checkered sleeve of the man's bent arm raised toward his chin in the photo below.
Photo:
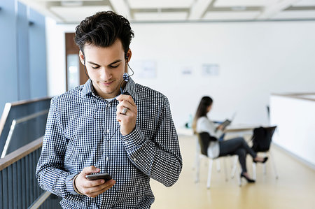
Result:
{"type": "Polygon", "coordinates": [[[183,162],[179,138],[166,97],[154,139],[149,139],[136,126],[122,140],[132,163],[146,175],[167,187],[171,187],[179,179],[183,162]]]}

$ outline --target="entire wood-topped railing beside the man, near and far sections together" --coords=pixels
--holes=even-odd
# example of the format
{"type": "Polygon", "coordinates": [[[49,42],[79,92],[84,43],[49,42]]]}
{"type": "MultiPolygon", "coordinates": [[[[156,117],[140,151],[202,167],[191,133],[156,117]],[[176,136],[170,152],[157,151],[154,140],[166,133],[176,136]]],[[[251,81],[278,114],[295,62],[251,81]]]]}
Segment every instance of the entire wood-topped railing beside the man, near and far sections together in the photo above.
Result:
{"type": "Polygon", "coordinates": [[[60,208],[61,199],[43,191],[35,176],[49,106],[50,98],[6,103],[0,119],[0,209],[60,208]]]}

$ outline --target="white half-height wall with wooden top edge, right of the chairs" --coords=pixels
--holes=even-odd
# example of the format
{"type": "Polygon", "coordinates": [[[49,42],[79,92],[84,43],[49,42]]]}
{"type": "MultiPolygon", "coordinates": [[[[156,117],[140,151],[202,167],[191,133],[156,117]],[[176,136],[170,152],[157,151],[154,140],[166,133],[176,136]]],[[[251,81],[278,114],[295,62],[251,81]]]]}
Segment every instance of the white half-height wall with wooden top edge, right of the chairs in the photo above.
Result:
{"type": "Polygon", "coordinates": [[[270,107],[273,142],[315,168],[315,101],[272,95],[270,107]]]}

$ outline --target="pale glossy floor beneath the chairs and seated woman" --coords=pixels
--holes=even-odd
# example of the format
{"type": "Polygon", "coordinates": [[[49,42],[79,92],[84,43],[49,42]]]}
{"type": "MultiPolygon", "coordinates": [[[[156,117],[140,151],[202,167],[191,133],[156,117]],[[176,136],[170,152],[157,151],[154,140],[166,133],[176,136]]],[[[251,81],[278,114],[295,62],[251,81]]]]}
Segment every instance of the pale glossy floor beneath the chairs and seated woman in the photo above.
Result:
{"type": "MultiPolygon", "coordinates": [[[[200,182],[195,183],[195,139],[180,136],[183,171],[173,187],[151,180],[155,203],[152,208],[302,208],[315,209],[315,171],[304,166],[276,146],[272,147],[279,179],[276,180],[272,164],[267,161],[267,173],[262,165],[257,167],[255,184],[243,181],[238,186],[237,178],[225,182],[224,171],[212,170],[211,189],[207,189],[207,160],[200,162],[200,182]]],[[[226,159],[230,173],[230,159],[226,159]]],[[[223,159],[221,159],[223,168],[223,159]]],[[[252,176],[251,157],[247,157],[248,172],[252,176]]]]}

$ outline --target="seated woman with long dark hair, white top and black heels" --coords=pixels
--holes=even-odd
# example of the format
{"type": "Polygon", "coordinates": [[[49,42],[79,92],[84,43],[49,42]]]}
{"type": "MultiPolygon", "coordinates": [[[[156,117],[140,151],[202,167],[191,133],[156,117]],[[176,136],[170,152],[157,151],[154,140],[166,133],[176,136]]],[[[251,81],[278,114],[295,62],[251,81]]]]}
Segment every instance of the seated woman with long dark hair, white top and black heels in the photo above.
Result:
{"type": "MultiPolygon", "coordinates": [[[[202,97],[200,104],[197,108],[195,119],[193,121],[193,130],[195,134],[202,132],[209,133],[210,136],[220,138],[223,134],[223,127],[216,125],[214,122],[208,119],[207,113],[211,110],[212,99],[209,96],[202,97]]],[[[239,164],[241,164],[241,178],[246,178],[247,182],[255,182],[251,179],[246,169],[246,154],[249,153],[253,157],[253,161],[265,163],[267,157],[262,158],[251,150],[244,140],[244,138],[232,138],[230,140],[211,140],[208,147],[208,156],[211,158],[226,156],[228,154],[237,154],[239,156],[239,164]]]]}

